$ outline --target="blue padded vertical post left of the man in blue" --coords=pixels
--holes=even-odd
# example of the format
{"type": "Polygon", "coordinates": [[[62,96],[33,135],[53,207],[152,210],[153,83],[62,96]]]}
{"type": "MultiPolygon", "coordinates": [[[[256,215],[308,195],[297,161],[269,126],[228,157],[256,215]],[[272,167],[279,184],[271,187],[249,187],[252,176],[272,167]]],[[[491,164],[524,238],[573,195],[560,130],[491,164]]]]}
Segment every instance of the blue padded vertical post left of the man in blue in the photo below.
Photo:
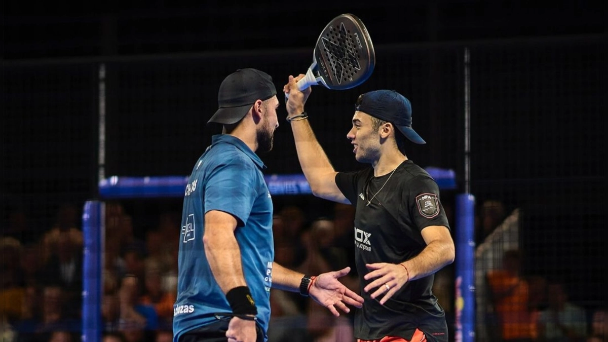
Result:
{"type": "Polygon", "coordinates": [[[86,201],[82,223],[82,341],[99,342],[102,337],[103,202],[86,201]]]}

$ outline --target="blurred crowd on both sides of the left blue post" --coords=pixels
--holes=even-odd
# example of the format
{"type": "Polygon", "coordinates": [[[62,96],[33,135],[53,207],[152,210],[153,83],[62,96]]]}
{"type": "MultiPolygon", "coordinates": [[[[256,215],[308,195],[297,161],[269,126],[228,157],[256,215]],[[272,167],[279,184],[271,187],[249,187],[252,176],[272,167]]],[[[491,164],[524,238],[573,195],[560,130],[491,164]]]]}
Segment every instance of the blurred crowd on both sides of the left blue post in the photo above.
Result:
{"type": "MultiPolygon", "coordinates": [[[[106,203],[103,262],[103,341],[173,340],[181,215],[159,215],[157,226],[135,234],[120,203],[106,203]],[[177,229],[177,230],[175,230],[177,229]]],[[[10,214],[0,240],[2,341],[71,342],[82,335],[83,232],[72,204],[55,224],[31,231],[23,212],[10,214]]]]}

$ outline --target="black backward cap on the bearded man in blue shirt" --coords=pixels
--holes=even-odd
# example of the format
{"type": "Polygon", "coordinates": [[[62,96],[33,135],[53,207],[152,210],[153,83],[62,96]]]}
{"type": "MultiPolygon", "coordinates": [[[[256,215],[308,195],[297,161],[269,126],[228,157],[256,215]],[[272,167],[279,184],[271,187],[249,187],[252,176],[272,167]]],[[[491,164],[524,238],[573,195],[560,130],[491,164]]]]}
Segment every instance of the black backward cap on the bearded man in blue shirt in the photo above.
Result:
{"type": "Polygon", "coordinates": [[[256,100],[268,100],[277,94],[272,77],[257,69],[238,69],[219,85],[218,107],[207,124],[235,124],[243,119],[256,100]]]}

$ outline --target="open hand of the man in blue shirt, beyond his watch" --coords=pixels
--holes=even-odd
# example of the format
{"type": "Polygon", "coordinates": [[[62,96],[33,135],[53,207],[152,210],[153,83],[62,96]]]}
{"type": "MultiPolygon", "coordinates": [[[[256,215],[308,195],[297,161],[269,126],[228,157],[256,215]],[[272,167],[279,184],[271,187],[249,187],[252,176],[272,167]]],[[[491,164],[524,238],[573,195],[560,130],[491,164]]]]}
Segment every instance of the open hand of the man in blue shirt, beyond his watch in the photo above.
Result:
{"type": "Polygon", "coordinates": [[[336,308],[349,313],[350,308],[347,305],[357,308],[363,306],[364,299],[338,281],[340,277],[346,276],[349,271],[350,267],[346,267],[339,271],[319,274],[309,290],[309,296],[330,310],[336,317],[340,316],[336,308]]]}

